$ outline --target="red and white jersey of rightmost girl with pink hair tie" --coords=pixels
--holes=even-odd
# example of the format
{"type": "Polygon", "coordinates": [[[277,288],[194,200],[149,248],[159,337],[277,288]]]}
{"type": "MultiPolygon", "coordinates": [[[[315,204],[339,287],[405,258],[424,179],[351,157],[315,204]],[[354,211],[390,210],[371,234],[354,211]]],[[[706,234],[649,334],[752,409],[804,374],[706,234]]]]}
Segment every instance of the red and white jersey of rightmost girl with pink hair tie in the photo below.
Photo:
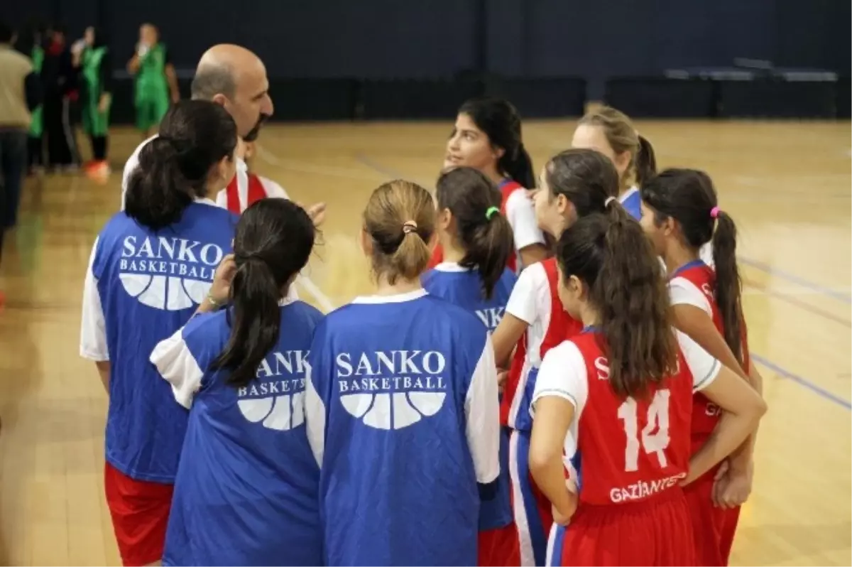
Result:
{"type": "MultiPolygon", "coordinates": [[[[716,304],[716,272],[701,260],[686,263],[676,269],[669,281],[669,295],[671,304],[693,305],[711,316],[713,325],[717,331],[724,336],[722,315],[716,304]]],[[[748,344],[745,338],[745,326],[743,327],[743,354],[748,361],[748,344]]],[[[745,368],[748,372],[748,367],[745,368]]],[[[696,394],[693,409],[693,436],[697,446],[703,444],[709,436],[722,415],[722,410],[713,402],[701,394],[696,394]]]]}

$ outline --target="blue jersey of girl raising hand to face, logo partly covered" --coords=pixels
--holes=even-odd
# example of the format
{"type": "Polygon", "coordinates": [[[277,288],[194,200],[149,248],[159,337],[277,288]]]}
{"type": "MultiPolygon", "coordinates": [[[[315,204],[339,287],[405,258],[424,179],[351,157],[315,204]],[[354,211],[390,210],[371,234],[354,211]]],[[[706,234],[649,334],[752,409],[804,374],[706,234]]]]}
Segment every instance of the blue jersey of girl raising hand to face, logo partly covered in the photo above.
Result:
{"type": "Polygon", "coordinates": [[[308,349],[322,315],[299,301],[280,314],[278,343],[245,387],[210,370],[231,331],[224,310],[195,317],[153,351],[191,408],[164,565],[323,565],[320,469],[304,426],[308,349]]]}

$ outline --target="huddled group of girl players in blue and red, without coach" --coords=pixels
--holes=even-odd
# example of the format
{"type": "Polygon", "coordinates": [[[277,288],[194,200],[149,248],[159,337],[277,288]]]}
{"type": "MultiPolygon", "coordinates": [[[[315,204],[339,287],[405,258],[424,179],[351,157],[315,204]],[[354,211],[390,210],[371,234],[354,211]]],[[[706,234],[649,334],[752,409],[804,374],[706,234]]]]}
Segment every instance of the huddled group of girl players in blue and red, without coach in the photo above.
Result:
{"type": "Polygon", "coordinates": [[[324,315],[293,289],[320,209],[228,199],[242,130],[172,107],[89,260],[124,565],[728,564],[766,405],[709,176],[607,107],[536,176],[515,108],[467,101],[324,315]]]}

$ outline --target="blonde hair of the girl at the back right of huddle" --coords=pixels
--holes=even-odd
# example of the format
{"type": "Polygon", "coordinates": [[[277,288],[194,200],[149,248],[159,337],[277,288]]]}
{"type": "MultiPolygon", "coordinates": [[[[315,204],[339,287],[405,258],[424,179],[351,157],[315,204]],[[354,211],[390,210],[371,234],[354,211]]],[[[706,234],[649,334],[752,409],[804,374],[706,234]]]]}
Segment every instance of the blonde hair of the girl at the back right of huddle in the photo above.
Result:
{"type": "Polygon", "coordinates": [[[651,142],[636,131],[630,118],[613,107],[600,107],[585,113],[579,124],[600,126],[607,143],[616,154],[629,152],[630,163],[621,176],[621,188],[630,187],[631,182],[642,187],[644,182],[657,172],[657,159],[651,142]]]}

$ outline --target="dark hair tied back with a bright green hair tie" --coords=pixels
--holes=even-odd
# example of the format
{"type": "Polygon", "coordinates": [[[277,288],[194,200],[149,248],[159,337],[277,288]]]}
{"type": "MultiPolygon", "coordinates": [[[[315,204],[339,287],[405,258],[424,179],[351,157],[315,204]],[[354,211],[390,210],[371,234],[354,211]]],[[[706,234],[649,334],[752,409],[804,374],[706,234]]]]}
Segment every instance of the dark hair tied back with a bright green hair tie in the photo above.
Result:
{"type": "Polygon", "coordinates": [[[477,269],[486,299],[515,250],[509,220],[500,213],[500,190],[481,171],[458,167],[438,179],[438,209],[449,209],[464,250],[463,268],[477,269]]]}

